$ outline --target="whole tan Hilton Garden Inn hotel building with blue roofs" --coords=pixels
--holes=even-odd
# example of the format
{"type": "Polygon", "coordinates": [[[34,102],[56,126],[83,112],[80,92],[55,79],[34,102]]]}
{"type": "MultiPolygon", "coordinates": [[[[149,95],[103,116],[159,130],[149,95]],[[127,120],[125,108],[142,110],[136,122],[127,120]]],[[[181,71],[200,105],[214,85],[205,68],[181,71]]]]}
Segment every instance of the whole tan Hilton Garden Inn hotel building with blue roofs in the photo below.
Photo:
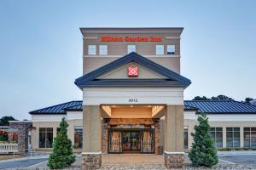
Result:
{"type": "Polygon", "coordinates": [[[191,83],[180,72],[183,28],[80,28],[83,101],[31,111],[32,148],[50,150],[61,117],[82,152],[83,168],[102,154],[164,152],[166,167],[183,167],[196,117],[207,113],[218,148],[256,146],[256,106],[237,101],[184,101],[191,83]]]}

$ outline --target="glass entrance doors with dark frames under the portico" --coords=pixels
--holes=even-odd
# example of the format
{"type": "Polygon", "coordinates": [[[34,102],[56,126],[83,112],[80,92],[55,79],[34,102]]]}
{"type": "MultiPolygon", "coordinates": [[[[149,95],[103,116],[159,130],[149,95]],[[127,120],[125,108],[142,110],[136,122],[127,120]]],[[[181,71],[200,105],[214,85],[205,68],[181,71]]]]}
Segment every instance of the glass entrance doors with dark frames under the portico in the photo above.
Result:
{"type": "Polygon", "coordinates": [[[154,129],[109,129],[108,153],[154,153],[154,129]]]}

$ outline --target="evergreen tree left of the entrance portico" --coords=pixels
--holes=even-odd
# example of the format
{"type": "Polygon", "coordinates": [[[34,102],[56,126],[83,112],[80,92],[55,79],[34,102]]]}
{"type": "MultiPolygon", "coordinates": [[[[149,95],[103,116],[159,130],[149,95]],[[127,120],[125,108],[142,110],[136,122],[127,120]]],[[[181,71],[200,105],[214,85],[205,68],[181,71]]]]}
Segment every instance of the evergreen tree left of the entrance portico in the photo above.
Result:
{"type": "Polygon", "coordinates": [[[67,138],[67,127],[67,121],[63,117],[60,123],[60,131],[54,140],[53,152],[49,155],[48,167],[50,169],[69,167],[75,161],[72,141],[67,138]]]}

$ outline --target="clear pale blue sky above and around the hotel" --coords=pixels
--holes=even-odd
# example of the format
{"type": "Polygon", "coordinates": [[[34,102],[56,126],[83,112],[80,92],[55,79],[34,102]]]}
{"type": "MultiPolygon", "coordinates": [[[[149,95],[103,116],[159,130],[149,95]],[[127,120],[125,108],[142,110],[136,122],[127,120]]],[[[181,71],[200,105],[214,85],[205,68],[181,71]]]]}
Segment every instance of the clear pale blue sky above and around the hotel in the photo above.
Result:
{"type": "Polygon", "coordinates": [[[82,99],[79,27],[182,26],[185,99],[225,94],[256,98],[256,2],[14,1],[0,2],[0,116],[82,99]]]}

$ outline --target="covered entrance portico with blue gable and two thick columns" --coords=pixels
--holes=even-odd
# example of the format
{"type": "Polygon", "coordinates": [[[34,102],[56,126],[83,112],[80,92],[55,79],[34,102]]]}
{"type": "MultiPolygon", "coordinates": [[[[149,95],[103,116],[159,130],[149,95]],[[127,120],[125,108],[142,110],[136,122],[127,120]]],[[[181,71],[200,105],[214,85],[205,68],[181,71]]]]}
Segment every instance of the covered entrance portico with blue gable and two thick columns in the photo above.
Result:
{"type": "Polygon", "coordinates": [[[165,165],[183,167],[183,90],[189,79],[132,52],[79,77],[75,84],[83,90],[84,169],[101,167],[102,152],[108,153],[108,147],[119,153],[157,153],[161,116],[165,116],[165,165]],[[136,77],[127,73],[130,67],[137,68],[136,77]],[[121,125],[145,127],[111,131],[121,125]]]}

